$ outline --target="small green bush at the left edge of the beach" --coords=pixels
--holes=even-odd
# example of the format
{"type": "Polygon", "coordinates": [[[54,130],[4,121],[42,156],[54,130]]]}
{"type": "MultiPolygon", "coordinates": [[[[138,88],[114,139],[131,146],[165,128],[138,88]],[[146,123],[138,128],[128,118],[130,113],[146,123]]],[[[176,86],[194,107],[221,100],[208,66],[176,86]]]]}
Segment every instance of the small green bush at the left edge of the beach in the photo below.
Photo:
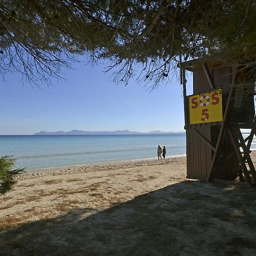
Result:
{"type": "Polygon", "coordinates": [[[11,170],[14,164],[15,159],[12,156],[6,155],[0,158],[0,195],[10,191],[16,183],[16,176],[24,172],[24,168],[11,170]]]}

